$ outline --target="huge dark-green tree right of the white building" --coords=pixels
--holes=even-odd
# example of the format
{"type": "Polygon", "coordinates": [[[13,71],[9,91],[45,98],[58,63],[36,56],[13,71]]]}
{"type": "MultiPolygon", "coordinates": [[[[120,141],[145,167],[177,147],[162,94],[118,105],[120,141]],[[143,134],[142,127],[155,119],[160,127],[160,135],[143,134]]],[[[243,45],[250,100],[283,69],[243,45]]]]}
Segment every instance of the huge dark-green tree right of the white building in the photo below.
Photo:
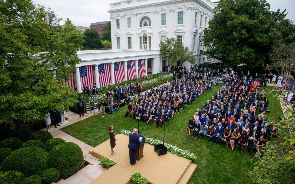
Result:
{"type": "Polygon", "coordinates": [[[246,63],[252,69],[268,63],[271,48],[282,39],[277,28],[292,27],[284,21],[284,14],[272,13],[269,8],[265,0],[221,0],[204,30],[206,56],[230,66],[246,63]]]}

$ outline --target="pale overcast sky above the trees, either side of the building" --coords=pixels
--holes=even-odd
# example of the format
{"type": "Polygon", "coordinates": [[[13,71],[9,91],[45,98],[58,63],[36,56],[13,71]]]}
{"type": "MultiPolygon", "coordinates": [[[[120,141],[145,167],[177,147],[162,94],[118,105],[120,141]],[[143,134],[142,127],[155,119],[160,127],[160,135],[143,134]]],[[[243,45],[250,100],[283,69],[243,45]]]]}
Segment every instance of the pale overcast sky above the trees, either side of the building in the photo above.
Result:
{"type": "MultiPolygon", "coordinates": [[[[63,23],[66,18],[69,18],[74,25],[89,27],[92,22],[110,20],[110,14],[107,12],[109,4],[119,1],[120,0],[33,0],[33,3],[41,4],[46,8],[50,7],[58,17],[63,18],[61,23],[63,23]]],[[[267,2],[269,2],[272,11],[287,9],[289,13],[286,18],[293,21],[295,20],[294,0],[267,0],[267,2]]]]}

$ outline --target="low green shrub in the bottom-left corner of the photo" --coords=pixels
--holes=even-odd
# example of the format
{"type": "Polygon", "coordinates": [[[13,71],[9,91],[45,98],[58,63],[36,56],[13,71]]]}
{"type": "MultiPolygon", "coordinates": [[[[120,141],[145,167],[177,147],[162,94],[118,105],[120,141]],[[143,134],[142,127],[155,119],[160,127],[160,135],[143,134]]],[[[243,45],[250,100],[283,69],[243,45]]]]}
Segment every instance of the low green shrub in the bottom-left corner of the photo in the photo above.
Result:
{"type": "Polygon", "coordinates": [[[25,175],[19,171],[1,171],[0,183],[1,184],[21,184],[26,179],[25,175]]]}

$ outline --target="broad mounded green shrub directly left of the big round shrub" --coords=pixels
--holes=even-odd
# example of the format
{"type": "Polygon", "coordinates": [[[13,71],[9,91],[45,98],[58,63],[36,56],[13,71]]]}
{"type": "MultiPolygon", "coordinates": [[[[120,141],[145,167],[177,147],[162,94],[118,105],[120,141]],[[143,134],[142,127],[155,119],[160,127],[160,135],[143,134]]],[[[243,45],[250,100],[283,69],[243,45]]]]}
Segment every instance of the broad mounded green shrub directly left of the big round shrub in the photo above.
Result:
{"type": "Polygon", "coordinates": [[[26,147],[13,151],[1,164],[5,171],[21,171],[27,176],[42,175],[47,169],[48,153],[42,148],[26,147]]]}

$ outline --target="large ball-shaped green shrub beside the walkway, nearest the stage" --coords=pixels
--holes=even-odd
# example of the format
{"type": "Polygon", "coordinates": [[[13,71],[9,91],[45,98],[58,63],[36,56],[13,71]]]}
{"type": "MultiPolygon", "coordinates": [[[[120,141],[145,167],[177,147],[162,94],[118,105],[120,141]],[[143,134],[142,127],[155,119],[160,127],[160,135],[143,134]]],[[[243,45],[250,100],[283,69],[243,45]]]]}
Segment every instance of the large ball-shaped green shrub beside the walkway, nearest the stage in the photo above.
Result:
{"type": "Polygon", "coordinates": [[[74,143],[61,143],[49,152],[49,167],[56,168],[62,176],[69,176],[83,165],[83,152],[74,143]]]}

